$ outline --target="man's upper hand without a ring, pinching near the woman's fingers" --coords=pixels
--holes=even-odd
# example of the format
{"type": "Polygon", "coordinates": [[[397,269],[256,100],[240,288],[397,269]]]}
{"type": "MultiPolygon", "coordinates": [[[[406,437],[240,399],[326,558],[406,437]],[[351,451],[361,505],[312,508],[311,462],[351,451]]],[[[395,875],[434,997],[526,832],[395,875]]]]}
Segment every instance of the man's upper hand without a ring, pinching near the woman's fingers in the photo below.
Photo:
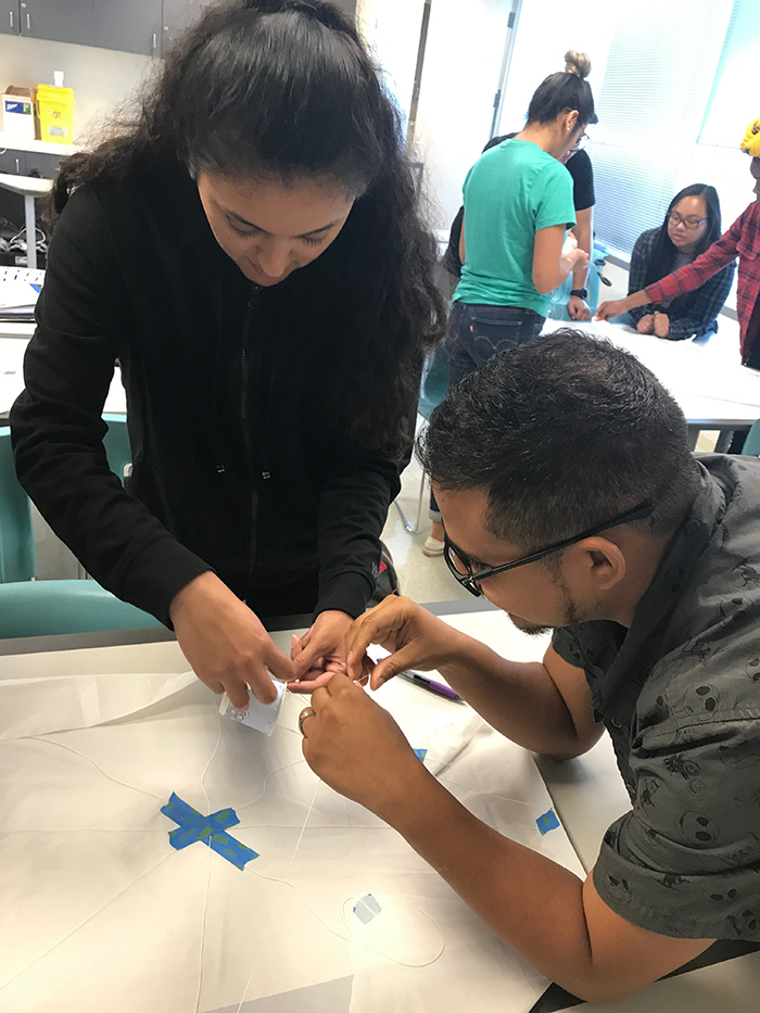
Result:
{"type": "Polygon", "coordinates": [[[389,595],[359,616],[346,636],[349,675],[371,676],[372,689],[407,669],[440,669],[459,654],[461,634],[403,595],[389,595]],[[366,654],[380,644],[391,655],[377,664],[366,654]]]}

